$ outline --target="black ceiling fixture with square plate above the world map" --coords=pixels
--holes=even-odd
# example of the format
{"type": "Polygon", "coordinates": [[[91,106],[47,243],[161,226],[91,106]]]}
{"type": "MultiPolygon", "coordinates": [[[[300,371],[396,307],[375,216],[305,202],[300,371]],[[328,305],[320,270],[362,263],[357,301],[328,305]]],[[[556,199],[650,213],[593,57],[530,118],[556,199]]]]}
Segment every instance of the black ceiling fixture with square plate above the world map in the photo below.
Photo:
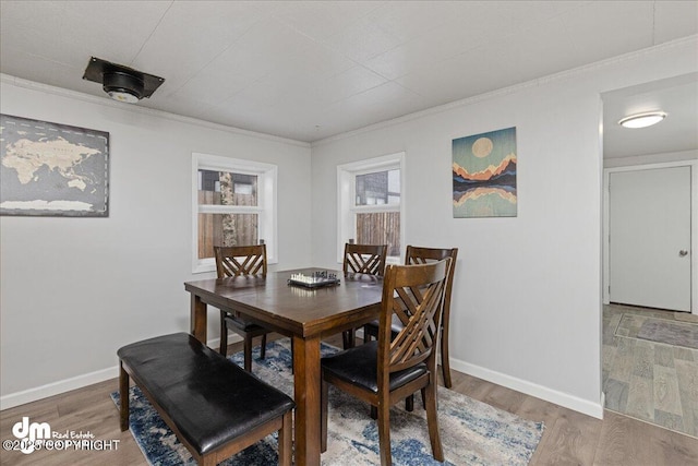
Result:
{"type": "Polygon", "coordinates": [[[163,77],[96,57],[89,59],[83,80],[100,83],[109,97],[129,104],[135,104],[144,97],[151,97],[165,82],[163,77]]]}

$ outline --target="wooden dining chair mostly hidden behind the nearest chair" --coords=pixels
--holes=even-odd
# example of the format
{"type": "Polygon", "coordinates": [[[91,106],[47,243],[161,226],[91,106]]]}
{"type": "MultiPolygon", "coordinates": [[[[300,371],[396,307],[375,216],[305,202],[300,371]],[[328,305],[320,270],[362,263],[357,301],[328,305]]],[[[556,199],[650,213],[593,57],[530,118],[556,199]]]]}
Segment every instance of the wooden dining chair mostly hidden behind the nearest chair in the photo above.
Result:
{"type": "MultiPolygon", "coordinates": [[[[450,357],[448,355],[448,335],[450,322],[450,295],[454,287],[454,273],[456,271],[456,259],[458,256],[458,248],[440,249],[440,248],[422,248],[408,246],[405,252],[405,264],[426,264],[429,262],[441,261],[450,258],[450,266],[448,267],[448,276],[446,277],[446,291],[444,292],[442,331],[441,331],[441,368],[444,374],[444,385],[447,389],[453,386],[450,380],[450,357]]],[[[393,322],[393,333],[400,331],[401,323],[393,322]]],[[[378,337],[378,321],[373,321],[363,326],[364,340],[378,337]]],[[[411,401],[408,402],[408,410],[411,410],[411,401]]]]}

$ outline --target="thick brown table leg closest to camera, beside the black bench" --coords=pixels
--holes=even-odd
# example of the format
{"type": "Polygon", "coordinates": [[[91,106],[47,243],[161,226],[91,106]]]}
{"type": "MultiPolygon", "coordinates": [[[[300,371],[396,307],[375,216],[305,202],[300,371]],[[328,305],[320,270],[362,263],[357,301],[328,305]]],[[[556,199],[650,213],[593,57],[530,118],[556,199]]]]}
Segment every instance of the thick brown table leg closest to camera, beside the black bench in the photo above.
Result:
{"type": "Polygon", "coordinates": [[[296,464],[320,466],[320,337],[293,336],[296,464]]]}

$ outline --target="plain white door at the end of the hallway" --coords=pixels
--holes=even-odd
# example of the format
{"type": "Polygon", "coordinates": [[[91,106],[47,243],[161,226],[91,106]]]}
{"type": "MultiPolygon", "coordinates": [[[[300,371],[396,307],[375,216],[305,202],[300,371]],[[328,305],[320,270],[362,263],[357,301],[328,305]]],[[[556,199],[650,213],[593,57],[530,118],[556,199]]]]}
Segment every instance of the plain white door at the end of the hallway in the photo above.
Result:
{"type": "Polygon", "coordinates": [[[609,175],[611,302],[690,312],[690,167],[609,175]]]}

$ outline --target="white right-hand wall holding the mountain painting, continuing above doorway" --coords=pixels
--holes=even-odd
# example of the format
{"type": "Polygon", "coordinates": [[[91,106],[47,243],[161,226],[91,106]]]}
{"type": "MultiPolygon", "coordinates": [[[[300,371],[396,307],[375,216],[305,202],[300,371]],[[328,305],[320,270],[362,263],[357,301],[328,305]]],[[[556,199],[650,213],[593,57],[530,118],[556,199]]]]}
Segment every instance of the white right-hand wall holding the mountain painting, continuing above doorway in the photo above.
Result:
{"type": "MultiPolygon", "coordinates": [[[[601,417],[601,97],[695,71],[696,39],[313,144],[313,259],[336,265],[336,166],[406,152],[407,243],[458,247],[452,367],[601,417]],[[453,218],[452,140],[517,129],[518,216],[453,218]]],[[[467,76],[464,76],[467,79],[467,76]]]]}

